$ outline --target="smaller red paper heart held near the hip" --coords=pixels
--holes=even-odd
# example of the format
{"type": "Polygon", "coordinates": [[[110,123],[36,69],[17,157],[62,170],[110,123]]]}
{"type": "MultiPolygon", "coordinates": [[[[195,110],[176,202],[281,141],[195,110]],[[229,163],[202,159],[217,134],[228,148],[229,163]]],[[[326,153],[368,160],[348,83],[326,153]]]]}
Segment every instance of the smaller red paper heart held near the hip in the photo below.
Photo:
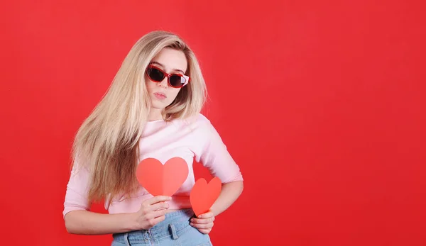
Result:
{"type": "Polygon", "coordinates": [[[205,179],[198,179],[190,193],[190,203],[196,216],[207,213],[214,201],[219,197],[222,189],[222,181],[218,177],[210,180],[209,184],[205,179]]]}

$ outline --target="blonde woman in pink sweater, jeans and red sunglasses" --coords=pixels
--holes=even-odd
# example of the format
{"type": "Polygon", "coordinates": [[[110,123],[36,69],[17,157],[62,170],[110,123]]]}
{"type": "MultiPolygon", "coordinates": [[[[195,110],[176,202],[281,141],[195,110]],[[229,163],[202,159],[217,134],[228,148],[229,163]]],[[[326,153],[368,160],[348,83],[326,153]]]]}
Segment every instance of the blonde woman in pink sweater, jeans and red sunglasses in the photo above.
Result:
{"type": "Polygon", "coordinates": [[[133,45],[107,94],[78,131],[63,216],[69,233],[113,234],[112,245],[212,245],[214,218],[243,190],[239,166],[200,114],[206,98],[200,66],[173,33],[154,31],[133,45]],[[180,157],[189,174],[172,196],[152,196],[138,183],[146,158],[180,157]],[[194,216],[193,160],[222,181],[208,213],[194,216]],[[105,201],[108,214],[89,211],[105,201]]]}

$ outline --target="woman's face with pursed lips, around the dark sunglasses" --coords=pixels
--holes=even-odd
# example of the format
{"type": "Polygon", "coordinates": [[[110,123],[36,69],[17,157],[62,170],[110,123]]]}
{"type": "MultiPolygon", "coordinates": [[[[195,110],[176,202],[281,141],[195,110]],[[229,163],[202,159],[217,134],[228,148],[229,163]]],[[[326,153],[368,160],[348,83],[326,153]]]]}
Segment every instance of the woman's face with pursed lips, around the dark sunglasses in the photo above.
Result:
{"type": "MultiPolygon", "coordinates": [[[[162,69],[168,74],[183,75],[187,69],[187,60],[182,51],[164,48],[153,58],[151,65],[162,69]]],[[[145,78],[152,108],[163,111],[178,96],[180,88],[170,86],[168,77],[164,77],[162,82],[153,82],[146,74],[145,78]]]]}

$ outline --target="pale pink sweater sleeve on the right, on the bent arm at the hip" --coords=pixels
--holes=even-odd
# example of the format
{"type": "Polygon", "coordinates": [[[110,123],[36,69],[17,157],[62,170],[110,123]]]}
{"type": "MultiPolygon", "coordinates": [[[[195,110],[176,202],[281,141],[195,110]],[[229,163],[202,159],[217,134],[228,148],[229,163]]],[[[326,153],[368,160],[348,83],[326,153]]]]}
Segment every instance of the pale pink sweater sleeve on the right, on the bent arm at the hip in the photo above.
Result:
{"type": "MultiPolygon", "coordinates": [[[[204,116],[203,116],[204,118],[204,116]]],[[[222,138],[212,123],[204,118],[203,124],[204,146],[197,162],[201,162],[209,169],[213,177],[218,177],[222,183],[243,181],[238,164],[229,154],[222,138]]]]}

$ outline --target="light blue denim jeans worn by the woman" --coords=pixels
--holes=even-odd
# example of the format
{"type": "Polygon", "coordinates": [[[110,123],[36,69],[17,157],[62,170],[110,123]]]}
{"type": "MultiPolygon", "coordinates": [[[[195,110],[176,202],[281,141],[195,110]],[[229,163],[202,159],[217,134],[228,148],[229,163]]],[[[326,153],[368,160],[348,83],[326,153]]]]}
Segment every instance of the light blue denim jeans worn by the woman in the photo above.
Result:
{"type": "Polygon", "coordinates": [[[149,230],[113,234],[111,246],[212,246],[210,237],[190,225],[194,216],[191,208],[165,215],[165,220],[149,230]]]}

